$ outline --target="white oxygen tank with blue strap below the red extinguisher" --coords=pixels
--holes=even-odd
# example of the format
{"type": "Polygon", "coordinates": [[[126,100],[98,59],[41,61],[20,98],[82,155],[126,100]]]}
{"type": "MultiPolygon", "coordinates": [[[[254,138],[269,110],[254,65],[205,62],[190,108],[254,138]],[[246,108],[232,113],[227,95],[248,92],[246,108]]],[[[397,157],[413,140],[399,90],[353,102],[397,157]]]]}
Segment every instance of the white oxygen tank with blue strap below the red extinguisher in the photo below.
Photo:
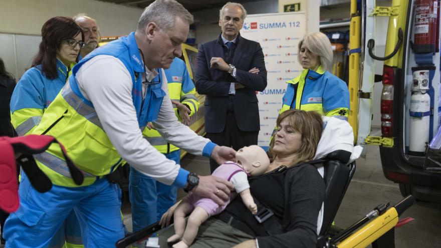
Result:
{"type": "Polygon", "coordinates": [[[409,152],[424,153],[429,142],[430,96],[429,71],[413,72],[412,96],[410,97],[409,152]]]}

